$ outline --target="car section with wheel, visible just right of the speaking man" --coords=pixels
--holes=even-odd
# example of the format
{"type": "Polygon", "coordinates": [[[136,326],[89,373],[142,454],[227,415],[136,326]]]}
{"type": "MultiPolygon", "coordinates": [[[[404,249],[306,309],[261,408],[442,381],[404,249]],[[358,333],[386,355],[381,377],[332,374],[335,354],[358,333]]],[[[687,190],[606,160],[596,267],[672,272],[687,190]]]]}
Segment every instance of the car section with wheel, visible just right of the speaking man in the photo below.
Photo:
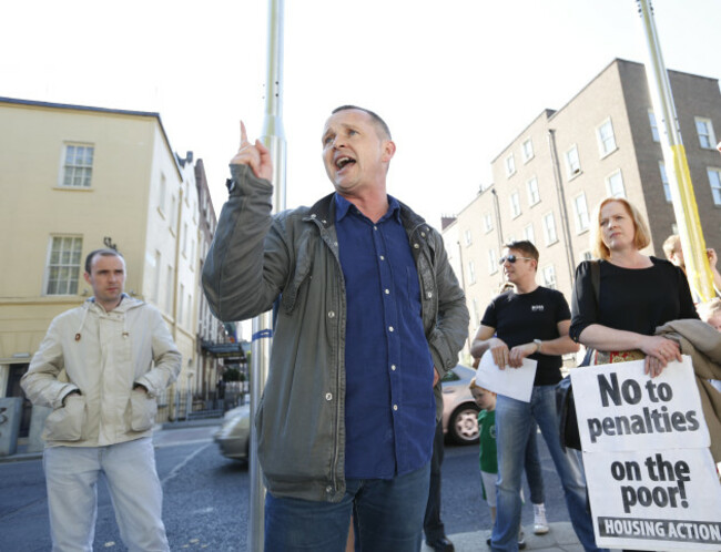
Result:
{"type": "Polygon", "coordinates": [[[468,384],[476,370],[464,365],[451,368],[440,381],[443,431],[458,444],[478,442],[478,411],[468,384]]]}

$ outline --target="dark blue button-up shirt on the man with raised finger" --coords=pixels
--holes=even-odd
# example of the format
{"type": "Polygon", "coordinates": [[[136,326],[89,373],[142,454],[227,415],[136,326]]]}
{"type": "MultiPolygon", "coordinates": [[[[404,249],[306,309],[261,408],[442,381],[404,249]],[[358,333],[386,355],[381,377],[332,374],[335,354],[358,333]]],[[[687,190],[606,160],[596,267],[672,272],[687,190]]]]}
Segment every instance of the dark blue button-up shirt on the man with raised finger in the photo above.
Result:
{"type": "Polygon", "coordinates": [[[395,198],[375,224],[338,194],[335,202],[347,304],[345,476],[389,479],[424,466],[433,448],[418,273],[395,198]]]}

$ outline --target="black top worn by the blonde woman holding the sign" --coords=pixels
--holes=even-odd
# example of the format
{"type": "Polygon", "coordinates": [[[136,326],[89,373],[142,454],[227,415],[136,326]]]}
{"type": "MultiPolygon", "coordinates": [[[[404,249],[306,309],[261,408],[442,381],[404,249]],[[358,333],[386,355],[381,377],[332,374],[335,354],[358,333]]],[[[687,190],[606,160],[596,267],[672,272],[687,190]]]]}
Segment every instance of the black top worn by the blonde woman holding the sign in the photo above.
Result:
{"type": "Polygon", "coordinates": [[[658,326],[698,318],[686,275],[672,263],[650,257],[648,268],[622,268],[600,263],[600,305],[591,283],[591,262],[576,268],[570,336],[578,338],[591,324],[652,336],[658,326]]]}

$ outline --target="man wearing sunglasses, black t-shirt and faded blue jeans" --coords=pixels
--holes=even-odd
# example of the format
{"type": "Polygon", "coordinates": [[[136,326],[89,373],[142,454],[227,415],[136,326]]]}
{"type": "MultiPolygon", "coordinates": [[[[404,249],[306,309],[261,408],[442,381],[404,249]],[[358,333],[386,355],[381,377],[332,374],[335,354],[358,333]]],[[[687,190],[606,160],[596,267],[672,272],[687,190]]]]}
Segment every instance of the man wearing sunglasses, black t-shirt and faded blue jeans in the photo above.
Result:
{"type": "Polygon", "coordinates": [[[535,419],[563,485],[571,523],[583,549],[598,550],[586,509],[586,480],[577,451],[563,452],[558,439],[555,387],[561,380],[561,355],[576,352],[568,336],[571,313],[560,292],[536,283],[538,249],[528,241],[506,245],[500,259],[506,279],[515,286],[488,305],[470,352],[480,358],[490,349],[502,370],[518,368],[524,358],[538,361],[530,402],[502,395],[496,402],[498,444],[497,518],[491,533],[494,551],[518,550],[520,484],[526,442],[535,419]]]}

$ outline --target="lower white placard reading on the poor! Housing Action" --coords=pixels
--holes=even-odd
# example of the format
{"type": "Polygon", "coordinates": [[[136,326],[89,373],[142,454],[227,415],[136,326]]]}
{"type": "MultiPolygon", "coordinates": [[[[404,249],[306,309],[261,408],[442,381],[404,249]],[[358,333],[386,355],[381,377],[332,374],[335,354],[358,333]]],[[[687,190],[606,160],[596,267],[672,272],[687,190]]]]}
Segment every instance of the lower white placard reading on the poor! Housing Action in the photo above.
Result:
{"type": "Polygon", "coordinates": [[[721,550],[721,485],[708,449],[583,453],[596,543],[721,550]]]}

